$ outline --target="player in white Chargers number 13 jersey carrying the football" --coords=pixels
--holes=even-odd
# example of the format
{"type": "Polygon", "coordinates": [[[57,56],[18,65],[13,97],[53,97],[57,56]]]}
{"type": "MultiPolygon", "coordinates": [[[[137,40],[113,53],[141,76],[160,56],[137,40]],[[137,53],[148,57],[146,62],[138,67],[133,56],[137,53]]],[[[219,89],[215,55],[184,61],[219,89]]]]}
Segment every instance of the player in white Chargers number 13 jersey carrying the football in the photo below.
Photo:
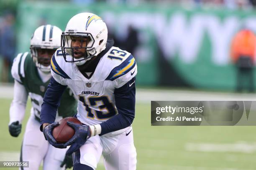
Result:
{"type": "MultiPolygon", "coordinates": [[[[131,124],[135,115],[136,61],[113,47],[99,16],[79,13],[67,23],[61,48],[51,59],[51,82],[41,110],[41,131],[51,145],[73,153],[74,170],[95,170],[103,155],[106,170],[135,170],[136,148],[131,124]],[[78,97],[76,117],[68,122],[75,135],[57,144],[52,130],[59,98],[66,87],[78,97]]],[[[68,106],[67,106],[68,107],[68,106]]]]}

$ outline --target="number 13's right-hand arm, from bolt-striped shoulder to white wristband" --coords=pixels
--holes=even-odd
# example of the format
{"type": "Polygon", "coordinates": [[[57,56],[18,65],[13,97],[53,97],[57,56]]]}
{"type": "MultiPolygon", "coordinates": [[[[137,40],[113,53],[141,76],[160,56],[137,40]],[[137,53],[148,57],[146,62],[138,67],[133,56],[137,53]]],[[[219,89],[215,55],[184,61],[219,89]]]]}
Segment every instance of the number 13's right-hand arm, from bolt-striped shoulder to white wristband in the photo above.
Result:
{"type": "Polygon", "coordinates": [[[108,80],[115,84],[115,106],[118,114],[102,122],[101,134],[110,133],[130,126],[135,117],[135,80],[137,65],[133,55],[127,57],[115,67],[108,76],[108,80]]]}

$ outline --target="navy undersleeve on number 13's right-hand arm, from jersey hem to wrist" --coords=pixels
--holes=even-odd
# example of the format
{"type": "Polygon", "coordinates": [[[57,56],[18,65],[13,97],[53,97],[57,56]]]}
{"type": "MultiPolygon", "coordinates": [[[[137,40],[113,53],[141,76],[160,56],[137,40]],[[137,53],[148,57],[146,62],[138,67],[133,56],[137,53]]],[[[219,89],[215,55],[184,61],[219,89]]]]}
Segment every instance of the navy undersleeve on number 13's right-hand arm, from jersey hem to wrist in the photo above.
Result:
{"type": "Polygon", "coordinates": [[[115,89],[115,106],[118,114],[100,124],[100,135],[126,128],[132,124],[135,116],[135,91],[135,77],[122,87],[115,89]]]}

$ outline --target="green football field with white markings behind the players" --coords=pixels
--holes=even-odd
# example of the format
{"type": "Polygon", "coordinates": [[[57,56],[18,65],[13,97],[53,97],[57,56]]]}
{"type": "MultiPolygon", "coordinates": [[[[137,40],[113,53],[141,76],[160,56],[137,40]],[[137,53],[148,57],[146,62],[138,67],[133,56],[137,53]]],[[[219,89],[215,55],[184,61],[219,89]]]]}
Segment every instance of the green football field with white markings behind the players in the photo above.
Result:
{"type": "MultiPolygon", "coordinates": [[[[8,133],[10,99],[0,99],[0,161],[18,159],[22,134],[8,133]]],[[[136,103],[133,122],[138,170],[255,170],[254,126],[151,126],[150,103],[136,103]]],[[[0,168],[4,169],[4,168],[0,168]]],[[[8,168],[12,170],[14,168],[8,168]]],[[[18,168],[16,168],[18,169],[18,168]]],[[[42,169],[42,168],[41,168],[42,169]]],[[[98,170],[104,170],[100,161],[98,170]]]]}

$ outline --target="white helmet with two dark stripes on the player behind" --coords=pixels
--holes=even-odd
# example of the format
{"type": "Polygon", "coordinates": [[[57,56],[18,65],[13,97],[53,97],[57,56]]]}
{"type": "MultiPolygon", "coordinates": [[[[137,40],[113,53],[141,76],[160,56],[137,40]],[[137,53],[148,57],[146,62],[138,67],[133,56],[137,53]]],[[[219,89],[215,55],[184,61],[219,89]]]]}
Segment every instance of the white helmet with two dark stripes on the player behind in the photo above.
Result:
{"type": "Polygon", "coordinates": [[[50,72],[51,66],[44,66],[38,62],[38,49],[57,50],[61,46],[61,29],[54,25],[42,25],[33,33],[30,40],[30,50],[33,62],[43,72],[50,72]]]}

